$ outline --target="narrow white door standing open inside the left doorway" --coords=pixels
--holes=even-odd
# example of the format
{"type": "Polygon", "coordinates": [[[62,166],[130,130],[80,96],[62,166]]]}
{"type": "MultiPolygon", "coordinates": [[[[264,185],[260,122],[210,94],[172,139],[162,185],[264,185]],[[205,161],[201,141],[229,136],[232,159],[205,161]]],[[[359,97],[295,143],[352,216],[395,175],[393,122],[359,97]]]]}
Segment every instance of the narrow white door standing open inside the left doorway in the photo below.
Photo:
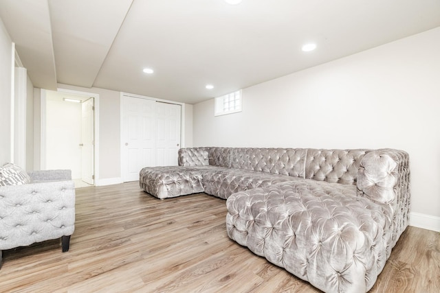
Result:
{"type": "Polygon", "coordinates": [[[94,176],[94,98],[81,103],[81,180],[95,184],[94,176]]]}

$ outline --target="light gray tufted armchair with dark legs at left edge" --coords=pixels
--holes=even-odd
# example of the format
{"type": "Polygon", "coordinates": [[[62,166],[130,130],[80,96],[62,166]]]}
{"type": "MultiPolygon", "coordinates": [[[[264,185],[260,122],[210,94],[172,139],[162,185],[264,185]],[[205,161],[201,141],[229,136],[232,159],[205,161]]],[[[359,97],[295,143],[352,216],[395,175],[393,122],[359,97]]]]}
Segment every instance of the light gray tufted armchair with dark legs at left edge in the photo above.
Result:
{"type": "Polygon", "coordinates": [[[69,250],[75,227],[75,186],[70,170],[28,172],[31,183],[0,187],[1,250],[61,237],[69,250]]]}

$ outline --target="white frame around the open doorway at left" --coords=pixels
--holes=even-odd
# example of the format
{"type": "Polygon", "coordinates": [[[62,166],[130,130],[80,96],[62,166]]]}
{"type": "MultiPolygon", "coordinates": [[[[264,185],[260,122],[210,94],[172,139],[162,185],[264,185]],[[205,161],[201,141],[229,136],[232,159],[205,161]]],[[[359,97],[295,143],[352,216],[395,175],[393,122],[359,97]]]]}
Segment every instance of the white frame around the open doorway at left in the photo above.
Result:
{"type": "MultiPolygon", "coordinates": [[[[72,95],[83,95],[93,97],[95,103],[94,110],[94,132],[95,132],[95,148],[94,148],[94,175],[95,186],[98,186],[99,180],[99,94],[89,93],[85,91],[74,91],[69,89],[56,89],[58,93],[66,93],[72,95]]],[[[41,89],[40,95],[40,169],[46,168],[46,90],[41,89]]]]}

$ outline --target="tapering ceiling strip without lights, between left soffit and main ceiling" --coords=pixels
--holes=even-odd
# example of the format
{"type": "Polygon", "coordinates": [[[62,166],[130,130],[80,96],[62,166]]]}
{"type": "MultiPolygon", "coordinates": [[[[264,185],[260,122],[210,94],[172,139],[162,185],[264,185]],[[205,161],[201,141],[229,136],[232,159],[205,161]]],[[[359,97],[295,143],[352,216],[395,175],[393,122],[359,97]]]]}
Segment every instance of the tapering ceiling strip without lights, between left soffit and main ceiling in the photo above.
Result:
{"type": "Polygon", "coordinates": [[[49,1],[58,82],[93,86],[132,1],[49,1]]]}

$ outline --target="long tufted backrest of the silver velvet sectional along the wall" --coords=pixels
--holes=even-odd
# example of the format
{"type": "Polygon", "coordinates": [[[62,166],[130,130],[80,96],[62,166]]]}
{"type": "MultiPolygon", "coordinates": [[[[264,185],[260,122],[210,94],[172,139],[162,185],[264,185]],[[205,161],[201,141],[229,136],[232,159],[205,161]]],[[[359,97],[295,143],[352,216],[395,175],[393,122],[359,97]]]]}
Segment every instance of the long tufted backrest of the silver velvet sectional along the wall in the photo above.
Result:
{"type": "Polygon", "coordinates": [[[186,148],[179,150],[179,165],[214,165],[356,185],[362,158],[369,152],[401,153],[390,149],[186,148]]]}

